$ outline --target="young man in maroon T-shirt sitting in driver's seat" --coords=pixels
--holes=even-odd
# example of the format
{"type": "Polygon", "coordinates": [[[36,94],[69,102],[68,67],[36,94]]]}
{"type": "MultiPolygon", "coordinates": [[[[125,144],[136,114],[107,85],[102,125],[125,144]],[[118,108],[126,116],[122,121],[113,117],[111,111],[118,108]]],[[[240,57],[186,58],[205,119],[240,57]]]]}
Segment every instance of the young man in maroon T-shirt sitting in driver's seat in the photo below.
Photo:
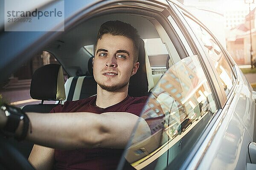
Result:
{"type": "MultiPolygon", "coordinates": [[[[26,133],[27,140],[39,144],[29,156],[36,169],[51,169],[54,163],[56,169],[116,168],[121,148],[127,144],[147,99],[128,96],[129,79],[140,65],[139,38],[130,24],[121,21],[102,24],[93,59],[97,95],[65,102],[51,111],[54,114],[26,113],[32,132],[24,132],[28,129],[23,126],[28,124],[25,116],[15,135],[19,138],[26,133]]],[[[3,110],[0,109],[2,128],[8,119],[3,110]]],[[[150,135],[144,120],[140,126],[142,136],[150,135]]]]}

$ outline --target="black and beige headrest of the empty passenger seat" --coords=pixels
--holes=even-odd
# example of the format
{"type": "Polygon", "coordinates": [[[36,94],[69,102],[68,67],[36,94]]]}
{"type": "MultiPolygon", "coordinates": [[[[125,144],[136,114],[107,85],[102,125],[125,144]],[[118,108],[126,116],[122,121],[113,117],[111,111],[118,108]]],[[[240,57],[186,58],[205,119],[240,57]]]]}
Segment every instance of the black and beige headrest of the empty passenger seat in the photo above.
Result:
{"type": "Polygon", "coordinates": [[[40,100],[64,100],[66,95],[61,65],[48,64],[38,68],[31,79],[30,96],[40,100]]]}

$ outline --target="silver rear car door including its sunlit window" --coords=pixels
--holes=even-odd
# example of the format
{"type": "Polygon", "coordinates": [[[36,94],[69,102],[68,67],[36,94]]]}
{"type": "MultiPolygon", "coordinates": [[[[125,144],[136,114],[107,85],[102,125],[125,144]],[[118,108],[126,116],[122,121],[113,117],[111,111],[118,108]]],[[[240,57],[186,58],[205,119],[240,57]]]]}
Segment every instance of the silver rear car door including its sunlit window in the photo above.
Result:
{"type": "Polygon", "coordinates": [[[206,55],[211,63],[224,99],[221,101],[219,120],[215,122],[218,126],[212,127],[215,133],[209,133],[211,138],[208,146],[204,147],[205,154],[202,153],[203,149],[198,150],[196,156],[201,161],[194,159],[189,167],[244,169],[249,162],[247,146],[253,141],[255,103],[252,99],[252,88],[210,31],[192,17],[192,14],[181,8],[179,10],[186,20],[184,23],[188,30],[193,31],[192,37],[195,34],[195,41],[200,43],[198,48],[203,48],[202,56],[206,55]]]}

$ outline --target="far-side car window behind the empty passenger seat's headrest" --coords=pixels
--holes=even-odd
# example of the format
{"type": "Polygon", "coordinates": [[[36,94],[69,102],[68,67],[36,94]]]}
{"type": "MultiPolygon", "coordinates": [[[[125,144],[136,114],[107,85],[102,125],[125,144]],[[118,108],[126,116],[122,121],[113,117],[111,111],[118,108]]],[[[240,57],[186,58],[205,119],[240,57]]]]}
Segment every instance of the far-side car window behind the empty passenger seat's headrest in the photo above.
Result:
{"type": "MultiPolygon", "coordinates": [[[[0,84],[0,96],[16,107],[41,103],[41,100],[31,99],[29,88],[35,70],[47,64],[60,63],[55,59],[54,55],[48,51],[39,51],[36,53],[32,59],[25,62],[20,68],[13,72],[8,80],[0,84]]],[[[66,81],[68,75],[64,69],[63,75],[64,81],[66,81]]],[[[54,104],[55,101],[45,101],[44,103],[54,104]]]]}

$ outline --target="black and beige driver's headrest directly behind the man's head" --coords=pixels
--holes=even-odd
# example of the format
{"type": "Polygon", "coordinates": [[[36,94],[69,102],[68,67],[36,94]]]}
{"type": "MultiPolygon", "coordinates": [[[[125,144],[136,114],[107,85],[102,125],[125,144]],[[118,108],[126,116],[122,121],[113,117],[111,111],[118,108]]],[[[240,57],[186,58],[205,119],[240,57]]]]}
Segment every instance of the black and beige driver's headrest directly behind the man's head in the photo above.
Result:
{"type": "Polygon", "coordinates": [[[140,62],[139,69],[137,73],[131,77],[128,88],[128,94],[134,97],[147,96],[154,88],[152,70],[148,54],[145,51],[145,44],[142,39],[140,39],[138,62],[140,62]]]}

